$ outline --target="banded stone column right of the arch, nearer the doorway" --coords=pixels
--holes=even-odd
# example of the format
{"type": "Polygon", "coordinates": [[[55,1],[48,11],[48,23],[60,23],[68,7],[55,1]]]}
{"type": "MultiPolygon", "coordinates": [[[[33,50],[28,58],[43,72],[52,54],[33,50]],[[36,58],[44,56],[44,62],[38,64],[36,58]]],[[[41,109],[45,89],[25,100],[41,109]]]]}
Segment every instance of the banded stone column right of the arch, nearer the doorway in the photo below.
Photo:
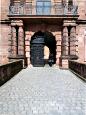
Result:
{"type": "Polygon", "coordinates": [[[63,28],[62,56],[68,56],[68,28],[63,28]]]}

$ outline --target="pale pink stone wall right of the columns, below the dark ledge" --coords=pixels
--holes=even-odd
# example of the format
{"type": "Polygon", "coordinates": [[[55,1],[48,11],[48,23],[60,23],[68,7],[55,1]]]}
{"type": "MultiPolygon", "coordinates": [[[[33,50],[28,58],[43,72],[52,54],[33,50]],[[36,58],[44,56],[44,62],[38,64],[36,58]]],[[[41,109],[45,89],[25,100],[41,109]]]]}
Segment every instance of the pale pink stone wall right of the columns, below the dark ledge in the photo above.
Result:
{"type": "Polygon", "coordinates": [[[76,37],[78,40],[78,57],[79,61],[86,61],[85,60],[85,53],[86,53],[86,24],[79,24],[76,28],[76,37]]]}

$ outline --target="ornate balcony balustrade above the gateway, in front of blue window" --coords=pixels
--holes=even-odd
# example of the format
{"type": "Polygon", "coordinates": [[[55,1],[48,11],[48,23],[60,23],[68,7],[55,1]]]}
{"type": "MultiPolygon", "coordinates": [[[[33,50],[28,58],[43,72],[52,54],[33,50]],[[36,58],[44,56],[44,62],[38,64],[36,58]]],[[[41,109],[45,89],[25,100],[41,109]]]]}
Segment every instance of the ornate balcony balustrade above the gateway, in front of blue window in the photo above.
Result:
{"type": "Polygon", "coordinates": [[[32,4],[17,4],[9,6],[9,15],[77,15],[77,6],[63,5],[62,3],[55,3],[54,5],[32,5],[32,4]]]}

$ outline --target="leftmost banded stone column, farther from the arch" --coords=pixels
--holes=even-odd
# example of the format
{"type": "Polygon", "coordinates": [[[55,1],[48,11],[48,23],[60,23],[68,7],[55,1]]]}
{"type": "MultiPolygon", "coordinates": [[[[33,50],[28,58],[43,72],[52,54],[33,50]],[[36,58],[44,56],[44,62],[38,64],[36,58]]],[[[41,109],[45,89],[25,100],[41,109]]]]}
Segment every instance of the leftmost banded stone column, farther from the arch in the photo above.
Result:
{"type": "Polygon", "coordinates": [[[17,56],[16,28],[15,26],[12,26],[11,29],[12,29],[11,54],[12,54],[12,57],[16,57],[17,56]]]}

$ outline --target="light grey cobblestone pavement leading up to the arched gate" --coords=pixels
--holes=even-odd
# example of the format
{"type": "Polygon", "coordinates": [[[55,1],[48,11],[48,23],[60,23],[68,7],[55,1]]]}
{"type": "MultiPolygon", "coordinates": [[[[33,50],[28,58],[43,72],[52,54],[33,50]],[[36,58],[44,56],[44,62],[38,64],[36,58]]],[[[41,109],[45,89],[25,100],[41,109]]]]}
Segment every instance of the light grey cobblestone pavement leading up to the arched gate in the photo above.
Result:
{"type": "Polygon", "coordinates": [[[0,115],[86,115],[86,83],[56,67],[24,69],[0,87],[0,115]]]}

